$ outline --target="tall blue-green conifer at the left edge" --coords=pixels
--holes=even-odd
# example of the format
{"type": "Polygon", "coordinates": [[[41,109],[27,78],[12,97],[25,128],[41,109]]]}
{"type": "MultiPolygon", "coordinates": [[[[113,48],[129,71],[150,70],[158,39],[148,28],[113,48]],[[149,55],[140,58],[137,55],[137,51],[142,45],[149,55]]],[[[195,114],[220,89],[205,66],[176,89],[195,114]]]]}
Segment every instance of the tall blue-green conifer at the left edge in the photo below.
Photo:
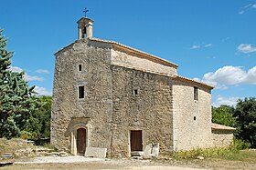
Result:
{"type": "Polygon", "coordinates": [[[0,30],[0,137],[16,137],[26,129],[28,118],[37,109],[34,88],[28,87],[24,73],[9,70],[13,52],[6,50],[7,39],[0,30]]]}

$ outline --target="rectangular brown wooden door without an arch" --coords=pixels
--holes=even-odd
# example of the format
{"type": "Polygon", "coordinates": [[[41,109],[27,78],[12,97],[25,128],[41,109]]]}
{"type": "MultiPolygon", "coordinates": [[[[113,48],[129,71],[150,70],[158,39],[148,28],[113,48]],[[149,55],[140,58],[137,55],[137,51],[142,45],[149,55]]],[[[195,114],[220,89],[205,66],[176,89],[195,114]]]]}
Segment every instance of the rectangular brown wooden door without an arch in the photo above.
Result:
{"type": "Polygon", "coordinates": [[[143,151],[143,131],[131,131],[130,144],[131,151],[143,151]]]}

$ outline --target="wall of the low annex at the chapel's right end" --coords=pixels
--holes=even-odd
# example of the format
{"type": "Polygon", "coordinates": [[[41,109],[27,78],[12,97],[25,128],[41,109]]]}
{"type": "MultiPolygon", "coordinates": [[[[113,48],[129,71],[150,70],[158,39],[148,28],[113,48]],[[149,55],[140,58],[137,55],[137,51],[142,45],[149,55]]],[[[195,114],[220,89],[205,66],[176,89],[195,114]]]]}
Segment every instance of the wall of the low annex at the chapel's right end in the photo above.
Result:
{"type": "Polygon", "coordinates": [[[233,132],[214,130],[212,131],[212,143],[216,147],[228,147],[233,144],[234,135],[233,132]]]}

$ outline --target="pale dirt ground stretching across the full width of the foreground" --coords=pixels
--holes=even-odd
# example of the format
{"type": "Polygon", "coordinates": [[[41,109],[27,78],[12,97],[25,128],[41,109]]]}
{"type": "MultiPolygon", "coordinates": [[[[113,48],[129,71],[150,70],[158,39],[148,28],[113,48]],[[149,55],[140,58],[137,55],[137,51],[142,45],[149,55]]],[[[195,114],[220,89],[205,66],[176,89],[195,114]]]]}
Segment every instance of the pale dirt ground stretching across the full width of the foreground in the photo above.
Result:
{"type": "Polygon", "coordinates": [[[101,159],[84,156],[43,156],[29,161],[15,162],[3,169],[126,169],[126,170],[202,170],[202,169],[256,169],[256,163],[220,159],[192,160],[138,160],[101,159]]]}

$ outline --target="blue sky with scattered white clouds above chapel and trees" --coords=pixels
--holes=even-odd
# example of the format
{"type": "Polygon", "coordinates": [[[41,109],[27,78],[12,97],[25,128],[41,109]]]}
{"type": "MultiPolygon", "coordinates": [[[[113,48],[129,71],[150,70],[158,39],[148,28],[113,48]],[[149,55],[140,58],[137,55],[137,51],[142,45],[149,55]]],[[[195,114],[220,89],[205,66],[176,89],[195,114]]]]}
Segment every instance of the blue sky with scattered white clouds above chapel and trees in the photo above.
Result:
{"type": "Polygon", "coordinates": [[[216,88],[213,105],[256,96],[256,0],[2,0],[0,28],[14,71],[50,95],[54,55],[77,39],[83,9],[93,36],[179,65],[178,74],[216,88]]]}

